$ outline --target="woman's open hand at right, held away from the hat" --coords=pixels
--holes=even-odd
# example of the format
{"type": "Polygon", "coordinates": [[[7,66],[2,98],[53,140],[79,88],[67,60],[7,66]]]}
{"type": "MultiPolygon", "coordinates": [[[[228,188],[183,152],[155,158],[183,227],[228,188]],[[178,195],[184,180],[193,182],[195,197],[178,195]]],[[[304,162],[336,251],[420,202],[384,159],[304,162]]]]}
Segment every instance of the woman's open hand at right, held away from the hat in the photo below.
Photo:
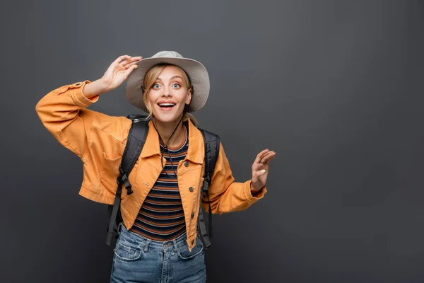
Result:
{"type": "Polygon", "coordinates": [[[250,183],[250,190],[255,193],[265,187],[266,178],[268,178],[269,161],[276,156],[274,151],[265,149],[257,155],[252,165],[252,183],[250,183]]]}

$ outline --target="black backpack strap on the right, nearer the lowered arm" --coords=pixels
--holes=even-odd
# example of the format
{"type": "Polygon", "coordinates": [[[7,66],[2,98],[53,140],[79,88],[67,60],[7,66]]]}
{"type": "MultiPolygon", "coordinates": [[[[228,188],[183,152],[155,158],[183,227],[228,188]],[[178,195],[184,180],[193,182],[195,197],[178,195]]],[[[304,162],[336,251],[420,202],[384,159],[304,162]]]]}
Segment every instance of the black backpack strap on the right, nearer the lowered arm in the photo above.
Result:
{"type": "Polygon", "coordinates": [[[209,212],[208,212],[208,224],[209,231],[206,231],[206,224],[204,221],[204,212],[201,209],[199,211],[199,231],[201,234],[201,239],[204,243],[204,246],[209,248],[211,246],[211,241],[209,237],[213,236],[213,226],[212,226],[212,212],[211,212],[211,201],[209,200],[209,185],[212,183],[213,171],[215,170],[216,161],[218,160],[219,155],[219,146],[220,139],[217,134],[213,134],[204,129],[200,129],[205,144],[205,171],[204,171],[204,183],[201,188],[201,197],[200,200],[203,200],[204,194],[208,197],[209,212]]]}

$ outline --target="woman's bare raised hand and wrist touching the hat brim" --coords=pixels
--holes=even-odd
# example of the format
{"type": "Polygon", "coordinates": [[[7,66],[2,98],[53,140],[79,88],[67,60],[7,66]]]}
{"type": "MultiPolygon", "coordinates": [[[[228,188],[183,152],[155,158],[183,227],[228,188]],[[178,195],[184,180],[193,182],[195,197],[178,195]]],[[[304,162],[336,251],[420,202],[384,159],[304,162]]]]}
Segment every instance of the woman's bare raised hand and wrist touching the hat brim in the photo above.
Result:
{"type": "Polygon", "coordinates": [[[126,78],[128,78],[131,71],[134,71],[138,66],[136,65],[142,57],[131,57],[128,55],[119,56],[109,68],[101,79],[87,83],[83,88],[83,94],[87,98],[98,96],[102,93],[112,91],[112,89],[120,86],[126,78]]]}

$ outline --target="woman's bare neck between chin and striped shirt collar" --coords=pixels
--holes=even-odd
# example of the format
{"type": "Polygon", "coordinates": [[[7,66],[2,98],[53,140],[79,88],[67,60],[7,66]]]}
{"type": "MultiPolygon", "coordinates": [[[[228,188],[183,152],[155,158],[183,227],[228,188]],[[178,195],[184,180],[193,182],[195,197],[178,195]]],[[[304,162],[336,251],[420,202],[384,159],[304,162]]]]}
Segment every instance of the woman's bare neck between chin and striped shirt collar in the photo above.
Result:
{"type": "Polygon", "coordinates": [[[184,138],[184,127],[182,126],[181,118],[173,122],[160,122],[153,118],[153,123],[155,124],[164,145],[175,147],[181,144],[182,139],[184,138]],[[174,134],[172,134],[172,132],[174,132],[174,134]]]}

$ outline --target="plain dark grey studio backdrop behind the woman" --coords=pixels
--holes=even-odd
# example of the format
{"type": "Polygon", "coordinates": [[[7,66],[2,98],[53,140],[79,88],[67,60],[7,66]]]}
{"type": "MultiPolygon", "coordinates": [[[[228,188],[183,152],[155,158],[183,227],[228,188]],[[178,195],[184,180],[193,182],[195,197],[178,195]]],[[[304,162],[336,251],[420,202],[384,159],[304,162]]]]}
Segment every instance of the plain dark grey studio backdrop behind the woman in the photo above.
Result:
{"type": "MultiPolygon", "coordinates": [[[[423,282],[423,1],[1,1],[0,282],[107,282],[106,208],[35,104],[119,55],[199,59],[236,180],[277,152],[269,193],[216,216],[208,282],[423,282]]],[[[93,110],[138,112],[124,86],[93,110]]]]}

